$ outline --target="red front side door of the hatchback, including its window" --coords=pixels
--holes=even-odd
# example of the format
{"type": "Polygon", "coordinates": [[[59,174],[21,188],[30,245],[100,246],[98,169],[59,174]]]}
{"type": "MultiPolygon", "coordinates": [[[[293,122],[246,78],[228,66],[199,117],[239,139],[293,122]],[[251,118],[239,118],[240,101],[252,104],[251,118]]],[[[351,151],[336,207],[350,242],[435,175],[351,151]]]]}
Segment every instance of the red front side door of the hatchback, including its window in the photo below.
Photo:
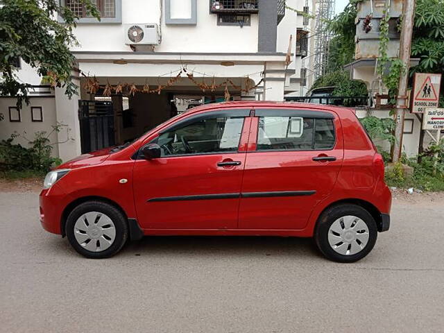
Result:
{"type": "Polygon", "coordinates": [[[146,144],[158,144],[162,155],[135,161],[133,188],[142,228],[237,228],[249,113],[191,114],[148,139],[146,144]]]}

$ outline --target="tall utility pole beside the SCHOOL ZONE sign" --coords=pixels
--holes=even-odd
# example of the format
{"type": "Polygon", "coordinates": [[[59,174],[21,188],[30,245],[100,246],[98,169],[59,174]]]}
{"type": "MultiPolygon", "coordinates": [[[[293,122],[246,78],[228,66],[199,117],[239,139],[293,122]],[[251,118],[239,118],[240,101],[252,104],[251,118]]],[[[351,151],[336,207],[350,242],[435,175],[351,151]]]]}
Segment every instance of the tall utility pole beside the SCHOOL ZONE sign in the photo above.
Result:
{"type": "Polygon", "coordinates": [[[404,132],[404,112],[407,108],[407,85],[409,83],[409,65],[411,36],[413,35],[413,17],[415,16],[415,0],[404,0],[402,6],[402,29],[400,38],[400,60],[405,65],[400,76],[398,96],[395,108],[395,144],[393,146],[393,162],[398,162],[402,151],[402,133],[404,132]]]}

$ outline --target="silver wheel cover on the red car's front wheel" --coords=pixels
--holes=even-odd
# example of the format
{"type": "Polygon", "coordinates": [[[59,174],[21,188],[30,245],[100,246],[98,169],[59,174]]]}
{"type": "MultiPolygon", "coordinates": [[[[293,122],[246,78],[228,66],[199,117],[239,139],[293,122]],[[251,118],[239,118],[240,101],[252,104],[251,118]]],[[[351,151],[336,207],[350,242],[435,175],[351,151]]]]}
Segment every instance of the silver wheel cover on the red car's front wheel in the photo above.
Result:
{"type": "Polygon", "coordinates": [[[112,246],[116,228],[106,214],[87,212],[74,224],[74,236],[77,243],[86,250],[100,252],[112,246]]]}

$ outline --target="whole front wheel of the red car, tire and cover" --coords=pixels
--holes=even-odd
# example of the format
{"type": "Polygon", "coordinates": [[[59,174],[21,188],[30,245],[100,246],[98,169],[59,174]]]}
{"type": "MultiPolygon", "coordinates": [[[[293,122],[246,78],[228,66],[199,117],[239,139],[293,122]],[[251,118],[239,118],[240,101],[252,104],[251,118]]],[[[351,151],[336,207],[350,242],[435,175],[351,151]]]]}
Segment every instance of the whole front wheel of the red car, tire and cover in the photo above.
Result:
{"type": "Polygon", "coordinates": [[[67,238],[80,255],[105,258],[115,255],[128,239],[125,216],[101,201],[78,205],[67,218],[67,238]]]}

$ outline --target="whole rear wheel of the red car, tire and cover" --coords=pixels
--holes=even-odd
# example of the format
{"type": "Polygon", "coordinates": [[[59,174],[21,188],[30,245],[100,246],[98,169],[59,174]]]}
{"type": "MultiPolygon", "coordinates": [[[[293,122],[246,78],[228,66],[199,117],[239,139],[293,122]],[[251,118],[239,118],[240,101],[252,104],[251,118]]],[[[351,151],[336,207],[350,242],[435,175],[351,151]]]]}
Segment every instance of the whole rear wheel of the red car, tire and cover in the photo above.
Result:
{"type": "Polygon", "coordinates": [[[319,216],[314,237],[327,259],[356,262],[375,246],[377,227],[373,216],[363,207],[336,205],[319,216]]]}

